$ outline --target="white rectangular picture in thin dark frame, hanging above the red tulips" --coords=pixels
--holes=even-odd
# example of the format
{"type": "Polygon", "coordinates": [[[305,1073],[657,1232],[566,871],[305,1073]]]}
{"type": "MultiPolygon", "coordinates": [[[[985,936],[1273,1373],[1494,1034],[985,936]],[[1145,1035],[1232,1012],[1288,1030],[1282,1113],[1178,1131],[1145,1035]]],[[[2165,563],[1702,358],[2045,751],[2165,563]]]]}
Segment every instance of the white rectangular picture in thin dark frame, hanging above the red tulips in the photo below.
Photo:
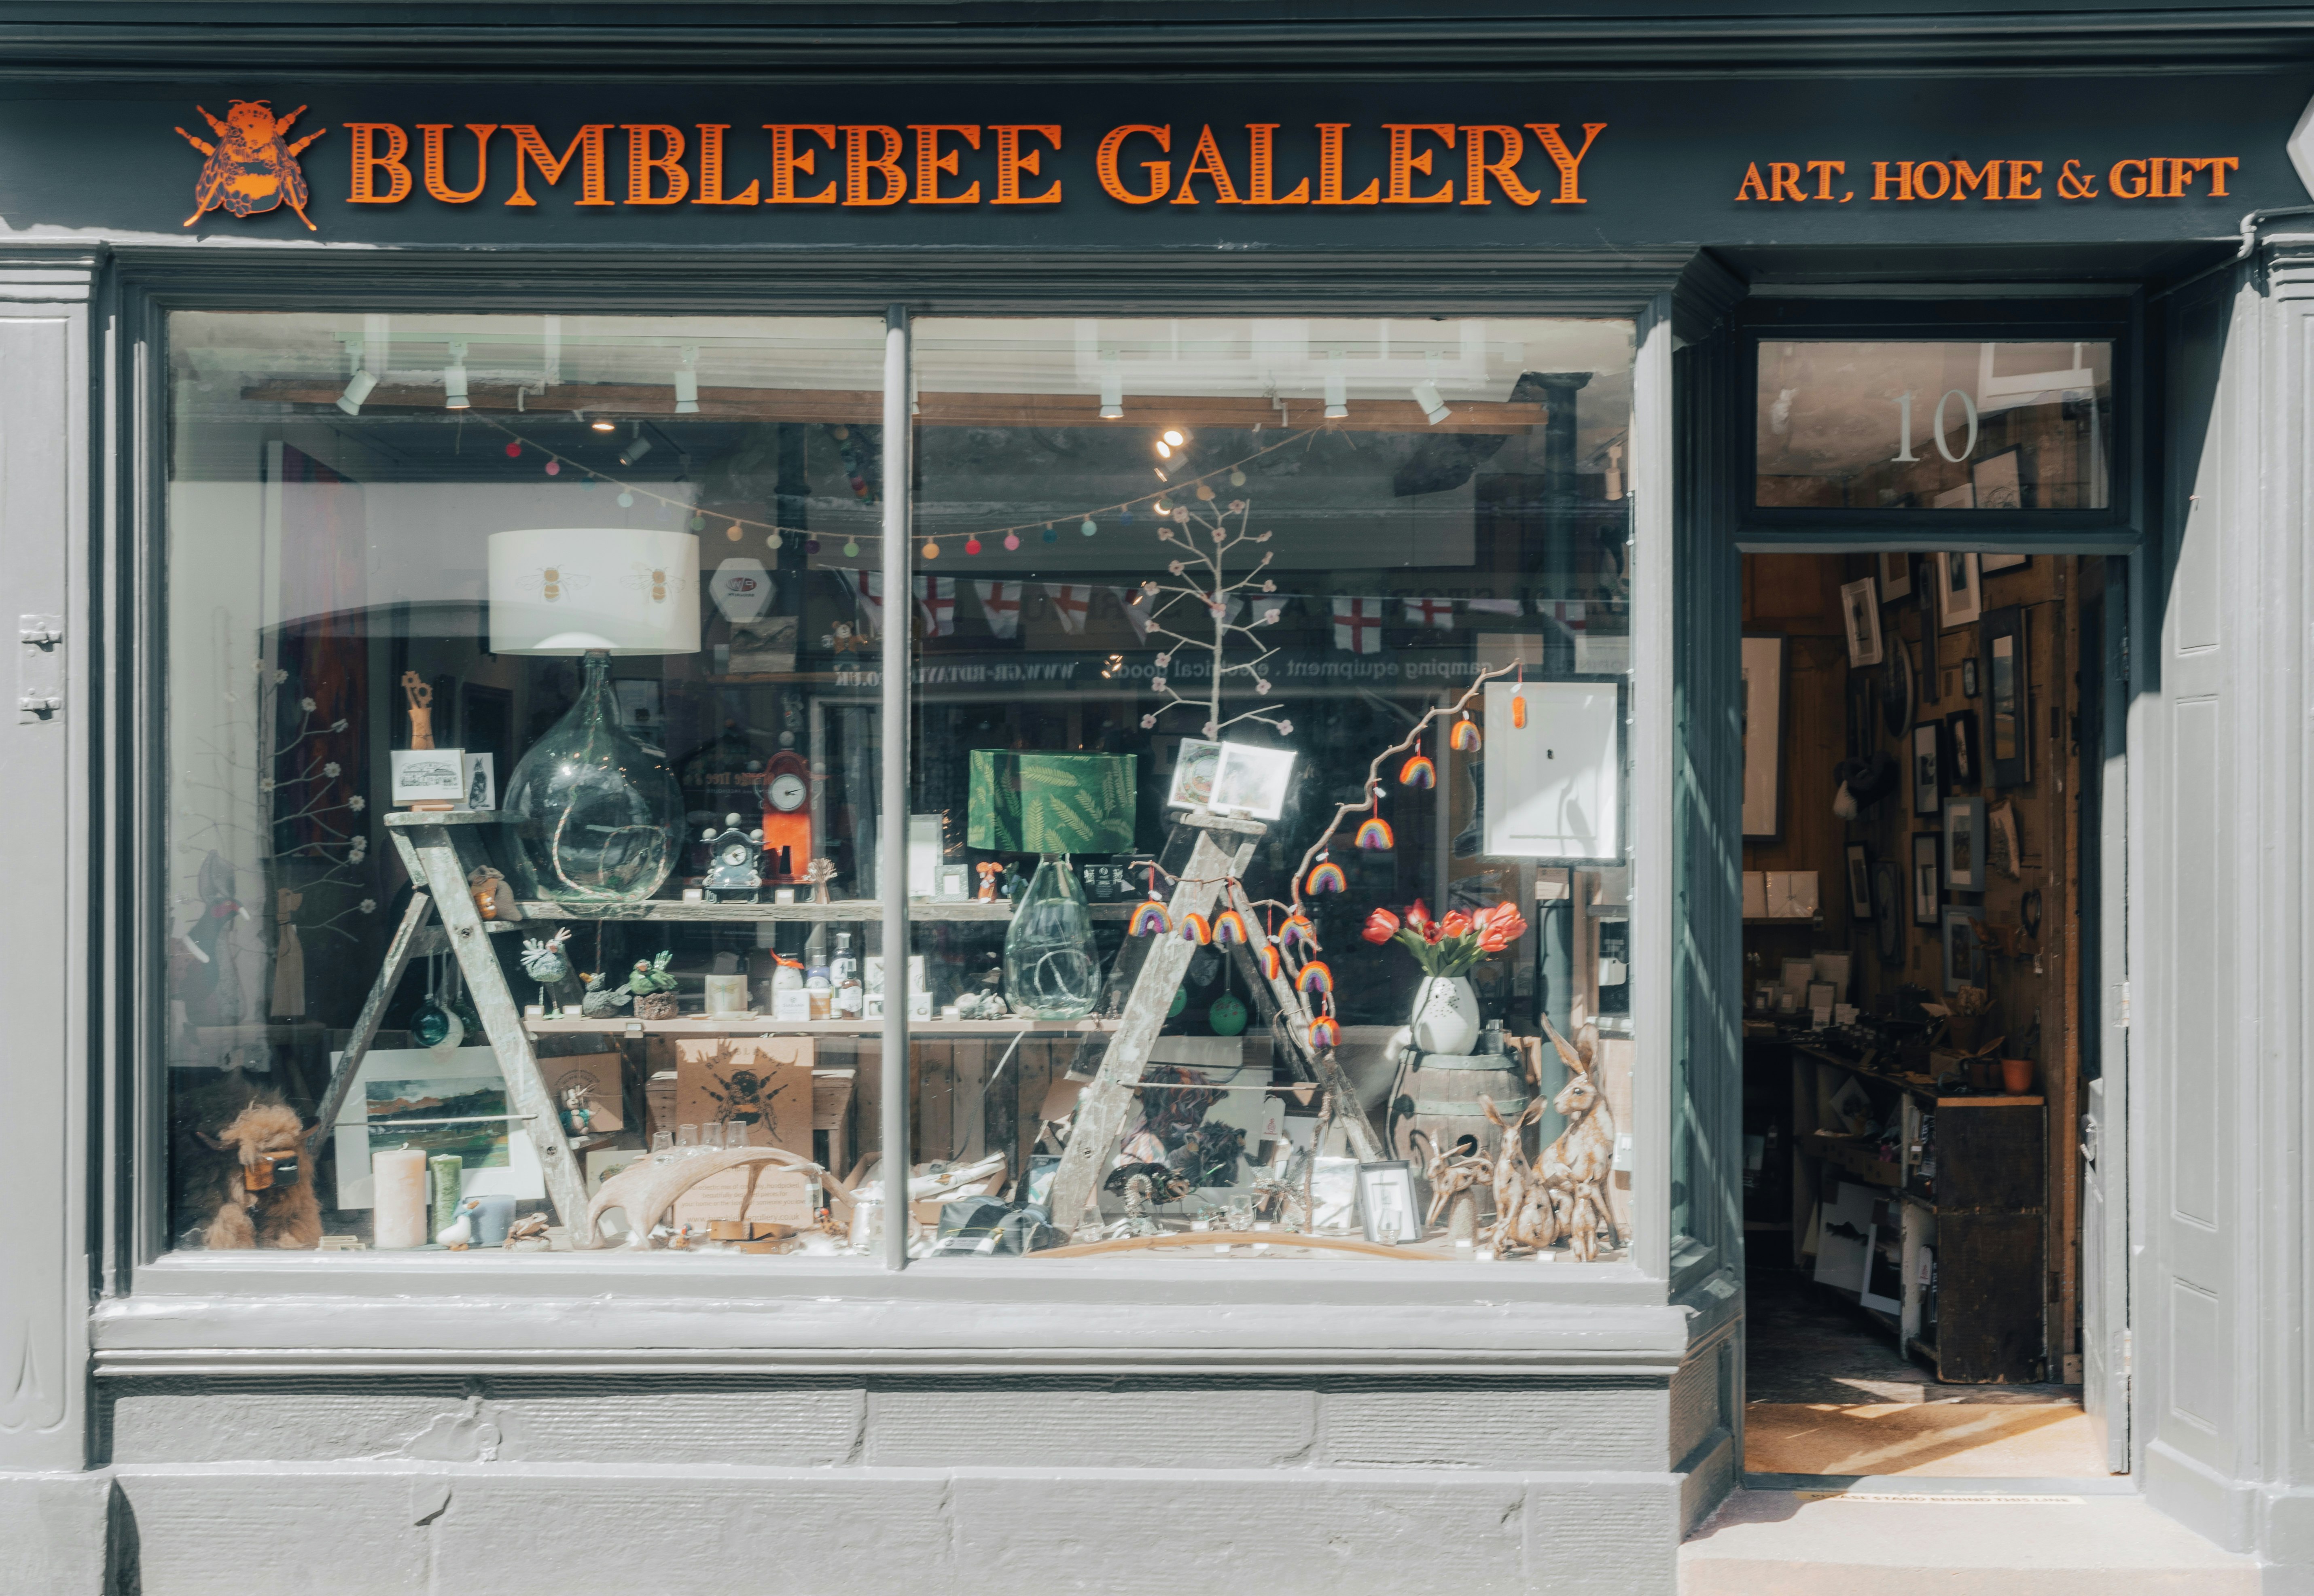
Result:
{"type": "Polygon", "coordinates": [[[1622,860],[1617,682],[1486,685],[1486,851],[1493,858],[1622,860]],[[1511,724],[1511,694],[1527,724],[1511,724]]]}

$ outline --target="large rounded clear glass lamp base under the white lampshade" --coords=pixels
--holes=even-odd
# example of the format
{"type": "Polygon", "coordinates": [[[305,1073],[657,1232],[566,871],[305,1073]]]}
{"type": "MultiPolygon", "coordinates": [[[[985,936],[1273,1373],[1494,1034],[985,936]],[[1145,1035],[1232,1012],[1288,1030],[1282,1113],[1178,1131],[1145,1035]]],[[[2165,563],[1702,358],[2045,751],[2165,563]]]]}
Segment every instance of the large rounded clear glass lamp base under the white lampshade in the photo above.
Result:
{"type": "Polygon", "coordinates": [[[666,881],[683,789],[662,754],[618,729],[606,655],[585,657],[578,703],[514,766],[500,810],[523,897],[636,900],[666,881]]]}

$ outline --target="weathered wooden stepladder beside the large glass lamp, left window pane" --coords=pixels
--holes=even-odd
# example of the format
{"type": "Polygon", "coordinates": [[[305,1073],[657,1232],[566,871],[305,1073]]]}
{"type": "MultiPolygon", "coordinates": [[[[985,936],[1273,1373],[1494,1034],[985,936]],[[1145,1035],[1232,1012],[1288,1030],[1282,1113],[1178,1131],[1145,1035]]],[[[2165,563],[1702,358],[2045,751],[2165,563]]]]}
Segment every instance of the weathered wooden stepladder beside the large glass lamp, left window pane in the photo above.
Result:
{"type": "MultiPolygon", "coordinates": [[[[491,948],[491,930],[498,925],[481,918],[465,888],[467,872],[488,863],[467,840],[467,830],[498,821],[500,817],[491,810],[396,812],[386,817],[386,835],[400,849],[417,891],[410,895],[403,923],[393,930],[393,941],[386,944],[386,962],[377,969],[377,981],[361,1004],[354,1034],[347,1036],[345,1052],[338,1055],[338,1066],[329,1076],[319,1124],[308,1136],[308,1157],[336,1129],[338,1113],[354,1089],[354,1076],[361,1071],[361,1059],[368,1057],[370,1043],[377,1039],[377,1025],[384,1020],[386,1004],[393,999],[393,988],[403,983],[410,960],[440,953],[447,946],[458,955],[458,971],[465,976],[474,1011],[481,1015],[481,1029],[498,1057],[498,1073],[507,1080],[507,1108],[516,1115],[507,1133],[530,1136],[530,1145],[539,1150],[539,1170],[546,1177],[546,1198],[555,1205],[555,1219],[569,1228],[574,1247],[585,1247],[588,1242],[578,1237],[588,1203],[585,1173],[562,1133],[562,1110],[539,1073],[539,1055],[530,1045],[530,1032],[523,1029],[523,1008],[507,990],[507,974],[491,948]],[[442,923],[428,925],[430,916],[440,916],[442,923]]],[[[504,930],[514,928],[504,925],[504,930]]]]}

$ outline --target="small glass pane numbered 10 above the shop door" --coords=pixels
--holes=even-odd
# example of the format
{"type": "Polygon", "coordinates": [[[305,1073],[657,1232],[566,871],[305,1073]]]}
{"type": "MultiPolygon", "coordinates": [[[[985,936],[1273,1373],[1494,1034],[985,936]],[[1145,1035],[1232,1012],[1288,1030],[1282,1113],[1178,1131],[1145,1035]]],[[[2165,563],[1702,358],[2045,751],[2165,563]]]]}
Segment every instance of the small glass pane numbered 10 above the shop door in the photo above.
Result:
{"type": "Polygon", "coordinates": [[[2110,342],[1759,345],[1756,504],[2106,509],[2110,342]]]}

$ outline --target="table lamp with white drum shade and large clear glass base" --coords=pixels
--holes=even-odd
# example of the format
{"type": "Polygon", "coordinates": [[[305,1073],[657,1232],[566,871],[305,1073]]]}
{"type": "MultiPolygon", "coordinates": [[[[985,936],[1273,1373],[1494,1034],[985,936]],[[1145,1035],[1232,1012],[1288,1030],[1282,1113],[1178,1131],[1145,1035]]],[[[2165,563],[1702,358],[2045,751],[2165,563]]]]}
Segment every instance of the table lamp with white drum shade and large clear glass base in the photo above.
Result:
{"type": "Polygon", "coordinates": [[[611,655],[699,652],[699,539],[648,527],[491,537],[491,650],[585,659],[578,701],[500,796],[514,886],[553,902],[650,897],[683,847],[666,756],[618,724],[611,655]]]}

